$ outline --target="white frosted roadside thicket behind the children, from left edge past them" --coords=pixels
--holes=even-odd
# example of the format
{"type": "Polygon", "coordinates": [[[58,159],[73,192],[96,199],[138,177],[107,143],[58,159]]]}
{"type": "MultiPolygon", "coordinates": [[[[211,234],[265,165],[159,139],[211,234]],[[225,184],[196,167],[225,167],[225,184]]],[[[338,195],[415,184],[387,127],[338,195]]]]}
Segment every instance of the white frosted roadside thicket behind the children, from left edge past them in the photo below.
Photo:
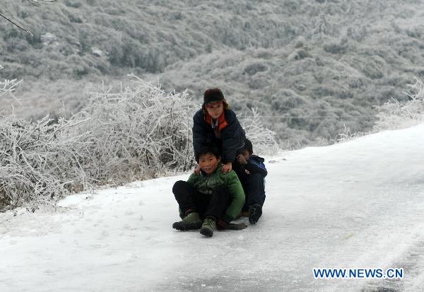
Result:
{"type": "MultiPolygon", "coordinates": [[[[192,122],[199,108],[183,93],[167,93],[136,76],[132,87],[91,88],[75,115],[38,122],[0,122],[0,211],[55,202],[99,185],[158,177],[194,168],[192,122]]],[[[18,81],[1,83],[1,94],[18,81]]],[[[257,110],[240,119],[257,153],[278,149],[257,110]]]]}

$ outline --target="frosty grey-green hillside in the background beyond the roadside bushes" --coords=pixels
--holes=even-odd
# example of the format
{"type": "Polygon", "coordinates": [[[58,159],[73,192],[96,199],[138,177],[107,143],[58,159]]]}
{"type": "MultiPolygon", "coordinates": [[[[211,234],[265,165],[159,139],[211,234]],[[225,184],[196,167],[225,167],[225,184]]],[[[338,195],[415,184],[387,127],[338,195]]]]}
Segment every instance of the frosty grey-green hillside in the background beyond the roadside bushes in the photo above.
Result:
{"type": "MultiPolygon", "coordinates": [[[[422,1],[65,0],[40,8],[6,0],[2,76],[25,78],[33,112],[84,103],[84,83],[129,72],[201,98],[220,86],[235,110],[259,107],[288,145],[372,127],[372,105],[404,97],[423,76],[422,1]],[[275,116],[275,117],[273,117],[275,116]]],[[[1,105],[7,111],[10,103],[1,105]]]]}

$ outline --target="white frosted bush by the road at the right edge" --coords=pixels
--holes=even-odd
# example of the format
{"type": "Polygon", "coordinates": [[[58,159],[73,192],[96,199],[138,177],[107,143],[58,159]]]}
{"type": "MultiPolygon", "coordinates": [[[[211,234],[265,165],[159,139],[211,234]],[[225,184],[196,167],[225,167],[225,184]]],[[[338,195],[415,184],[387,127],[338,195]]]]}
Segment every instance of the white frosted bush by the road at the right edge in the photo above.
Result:
{"type": "Polygon", "coordinates": [[[376,106],[379,120],[374,129],[401,129],[411,127],[424,121],[424,84],[416,79],[416,83],[410,85],[411,94],[407,94],[409,100],[402,103],[392,98],[383,105],[376,106]]]}

